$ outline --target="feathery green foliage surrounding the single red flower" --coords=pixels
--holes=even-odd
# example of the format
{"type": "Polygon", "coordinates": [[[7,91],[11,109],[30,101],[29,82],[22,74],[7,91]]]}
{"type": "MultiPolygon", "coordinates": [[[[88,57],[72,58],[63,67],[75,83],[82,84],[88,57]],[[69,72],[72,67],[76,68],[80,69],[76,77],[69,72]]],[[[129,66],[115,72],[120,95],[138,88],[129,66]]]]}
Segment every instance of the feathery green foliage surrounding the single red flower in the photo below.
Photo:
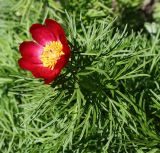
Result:
{"type": "Polygon", "coordinates": [[[160,152],[158,1],[0,0],[0,10],[0,152],[160,152]],[[72,50],[52,85],[17,64],[46,18],[72,50]]]}

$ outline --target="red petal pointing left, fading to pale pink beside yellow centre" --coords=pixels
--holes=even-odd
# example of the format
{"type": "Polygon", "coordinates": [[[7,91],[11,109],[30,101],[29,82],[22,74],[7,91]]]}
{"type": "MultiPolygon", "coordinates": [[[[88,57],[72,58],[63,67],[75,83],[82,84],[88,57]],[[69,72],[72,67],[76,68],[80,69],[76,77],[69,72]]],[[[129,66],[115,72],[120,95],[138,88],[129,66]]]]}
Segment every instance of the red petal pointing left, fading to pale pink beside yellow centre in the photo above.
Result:
{"type": "Polygon", "coordinates": [[[43,47],[33,41],[24,41],[20,44],[19,50],[21,52],[22,57],[24,58],[38,58],[43,51],[43,47]]]}

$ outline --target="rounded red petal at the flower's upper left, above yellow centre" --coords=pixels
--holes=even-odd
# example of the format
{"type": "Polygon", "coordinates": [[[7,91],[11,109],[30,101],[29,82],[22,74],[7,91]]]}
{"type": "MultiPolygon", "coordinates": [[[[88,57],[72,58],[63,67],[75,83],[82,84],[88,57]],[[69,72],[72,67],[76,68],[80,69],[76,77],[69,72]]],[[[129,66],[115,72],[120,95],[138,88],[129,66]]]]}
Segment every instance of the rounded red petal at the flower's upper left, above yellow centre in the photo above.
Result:
{"type": "Polygon", "coordinates": [[[43,46],[55,40],[53,34],[45,26],[40,24],[33,24],[30,28],[30,33],[32,34],[32,38],[43,46]]]}

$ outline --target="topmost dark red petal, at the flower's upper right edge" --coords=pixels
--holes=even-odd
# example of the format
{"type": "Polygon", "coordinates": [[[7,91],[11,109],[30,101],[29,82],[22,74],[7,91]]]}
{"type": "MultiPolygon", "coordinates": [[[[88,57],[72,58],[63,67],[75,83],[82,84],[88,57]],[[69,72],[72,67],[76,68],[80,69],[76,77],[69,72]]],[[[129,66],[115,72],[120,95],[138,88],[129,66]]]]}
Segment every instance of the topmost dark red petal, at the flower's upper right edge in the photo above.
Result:
{"type": "Polygon", "coordinates": [[[46,27],[53,33],[57,40],[59,40],[60,37],[63,37],[66,40],[65,32],[59,23],[52,19],[46,19],[45,23],[46,27]]]}

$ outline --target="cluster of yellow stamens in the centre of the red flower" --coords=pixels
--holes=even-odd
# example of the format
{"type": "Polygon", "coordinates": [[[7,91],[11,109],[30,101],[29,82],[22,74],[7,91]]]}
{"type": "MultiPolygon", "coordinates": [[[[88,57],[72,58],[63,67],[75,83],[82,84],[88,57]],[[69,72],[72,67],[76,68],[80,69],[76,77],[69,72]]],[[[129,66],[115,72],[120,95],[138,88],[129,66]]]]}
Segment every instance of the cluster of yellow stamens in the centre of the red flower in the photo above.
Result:
{"type": "Polygon", "coordinates": [[[40,59],[44,67],[48,67],[53,70],[61,55],[64,55],[61,42],[51,41],[43,48],[40,59]]]}

